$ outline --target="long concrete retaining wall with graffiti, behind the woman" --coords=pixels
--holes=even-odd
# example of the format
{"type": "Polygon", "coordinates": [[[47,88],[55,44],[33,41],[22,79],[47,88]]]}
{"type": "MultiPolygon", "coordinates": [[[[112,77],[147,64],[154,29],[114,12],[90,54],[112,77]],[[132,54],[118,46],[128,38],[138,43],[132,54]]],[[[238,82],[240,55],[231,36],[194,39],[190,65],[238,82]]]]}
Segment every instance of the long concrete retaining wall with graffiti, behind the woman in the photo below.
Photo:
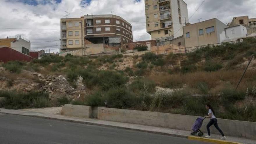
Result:
{"type": "MultiPolygon", "coordinates": [[[[157,113],[148,111],[134,111],[98,107],[97,118],[99,120],[126,122],[191,131],[191,127],[197,117],[170,113],[157,113]]],[[[208,122],[209,119],[204,120],[201,127],[202,131],[207,132],[206,125],[208,122]]],[[[256,139],[256,122],[218,119],[218,125],[227,136],[256,139]]],[[[211,133],[219,134],[214,126],[211,127],[211,133]]]]}

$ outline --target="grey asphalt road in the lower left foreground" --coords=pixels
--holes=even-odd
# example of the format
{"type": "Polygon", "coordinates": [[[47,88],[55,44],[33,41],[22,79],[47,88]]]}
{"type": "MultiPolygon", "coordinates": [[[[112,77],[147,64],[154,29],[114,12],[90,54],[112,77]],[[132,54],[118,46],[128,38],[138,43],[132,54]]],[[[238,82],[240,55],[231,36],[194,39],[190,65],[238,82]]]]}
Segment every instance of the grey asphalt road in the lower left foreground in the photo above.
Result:
{"type": "Polygon", "coordinates": [[[140,131],[8,114],[0,114],[0,143],[206,144],[140,131]]]}

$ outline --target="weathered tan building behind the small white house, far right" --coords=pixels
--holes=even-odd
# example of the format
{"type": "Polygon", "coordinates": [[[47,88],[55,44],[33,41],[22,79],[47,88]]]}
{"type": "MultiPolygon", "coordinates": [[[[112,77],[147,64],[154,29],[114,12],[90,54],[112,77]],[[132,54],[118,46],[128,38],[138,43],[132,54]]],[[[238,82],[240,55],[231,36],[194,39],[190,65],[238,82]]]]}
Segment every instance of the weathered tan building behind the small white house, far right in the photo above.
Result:
{"type": "Polygon", "coordinates": [[[248,15],[241,16],[241,17],[234,17],[232,19],[232,22],[228,24],[228,26],[237,26],[242,25],[245,26],[247,29],[248,35],[251,35],[252,33],[256,33],[256,18],[249,18],[248,15]]]}

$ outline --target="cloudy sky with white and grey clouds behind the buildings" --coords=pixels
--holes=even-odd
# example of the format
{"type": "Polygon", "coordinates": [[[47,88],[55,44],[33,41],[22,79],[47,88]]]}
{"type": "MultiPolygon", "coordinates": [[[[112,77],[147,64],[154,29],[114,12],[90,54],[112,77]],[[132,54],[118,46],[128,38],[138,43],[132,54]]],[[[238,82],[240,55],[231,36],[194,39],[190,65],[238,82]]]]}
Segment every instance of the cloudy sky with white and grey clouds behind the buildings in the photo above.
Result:
{"type": "MultiPolygon", "coordinates": [[[[191,17],[203,0],[184,1],[191,17]]],[[[151,39],[146,32],[144,0],[0,0],[0,6],[0,38],[21,35],[31,41],[34,50],[58,51],[60,18],[65,11],[70,18],[80,17],[80,9],[82,15],[112,11],[132,24],[134,41],[151,39]]],[[[256,0],[205,0],[189,22],[216,17],[226,24],[243,15],[256,17],[256,0]]]]}

